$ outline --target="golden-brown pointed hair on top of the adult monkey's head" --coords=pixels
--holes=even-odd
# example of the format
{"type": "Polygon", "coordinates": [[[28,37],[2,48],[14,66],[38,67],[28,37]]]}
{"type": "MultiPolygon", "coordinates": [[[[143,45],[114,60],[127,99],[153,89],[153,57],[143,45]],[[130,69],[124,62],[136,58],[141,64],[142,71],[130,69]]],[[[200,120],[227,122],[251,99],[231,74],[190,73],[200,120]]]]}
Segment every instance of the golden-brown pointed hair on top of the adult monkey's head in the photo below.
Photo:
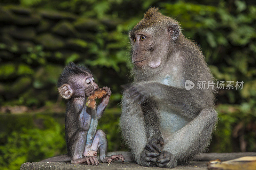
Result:
{"type": "Polygon", "coordinates": [[[163,29],[167,25],[179,24],[171,17],[164,16],[159,12],[157,7],[149,8],[144,14],[143,19],[130,31],[130,34],[134,34],[136,31],[140,31],[145,28],[154,27],[156,29],[163,29]]]}

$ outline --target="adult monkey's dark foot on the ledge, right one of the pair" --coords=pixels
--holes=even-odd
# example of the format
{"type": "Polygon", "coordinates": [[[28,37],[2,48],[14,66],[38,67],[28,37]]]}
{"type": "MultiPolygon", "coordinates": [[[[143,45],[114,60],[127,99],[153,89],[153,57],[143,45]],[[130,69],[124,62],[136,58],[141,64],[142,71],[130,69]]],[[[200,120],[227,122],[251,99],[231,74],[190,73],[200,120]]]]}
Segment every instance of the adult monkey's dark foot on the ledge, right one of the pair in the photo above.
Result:
{"type": "Polygon", "coordinates": [[[161,153],[157,157],[156,166],[174,168],[177,166],[177,160],[174,158],[174,156],[170,152],[163,151],[163,153],[161,153]]]}

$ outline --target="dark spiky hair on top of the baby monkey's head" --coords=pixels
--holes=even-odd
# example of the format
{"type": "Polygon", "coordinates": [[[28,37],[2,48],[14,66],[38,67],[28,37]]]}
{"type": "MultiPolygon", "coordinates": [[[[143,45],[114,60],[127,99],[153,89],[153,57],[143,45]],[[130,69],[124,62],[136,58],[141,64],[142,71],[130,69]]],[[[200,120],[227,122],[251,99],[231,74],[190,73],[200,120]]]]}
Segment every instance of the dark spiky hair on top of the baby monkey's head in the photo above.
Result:
{"type": "Polygon", "coordinates": [[[84,75],[88,76],[89,74],[92,74],[91,71],[82,65],[76,65],[73,62],[68,63],[62,73],[60,74],[60,77],[57,82],[57,87],[59,88],[63,84],[69,84],[69,80],[72,76],[75,75],[84,75]]]}

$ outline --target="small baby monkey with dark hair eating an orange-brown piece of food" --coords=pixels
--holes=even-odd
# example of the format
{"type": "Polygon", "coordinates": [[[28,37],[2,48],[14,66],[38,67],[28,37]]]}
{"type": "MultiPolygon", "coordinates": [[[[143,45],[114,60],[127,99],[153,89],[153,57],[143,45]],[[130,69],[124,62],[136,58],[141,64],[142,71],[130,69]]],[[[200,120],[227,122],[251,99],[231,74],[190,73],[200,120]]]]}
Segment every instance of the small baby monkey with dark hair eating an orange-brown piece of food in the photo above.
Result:
{"type": "Polygon", "coordinates": [[[106,134],[100,129],[96,131],[98,119],[108,105],[110,88],[102,88],[106,91],[106,95],[96,108],[87,107],[85,104],[87,97],[94,94],[99,86],[94,82],[89,69],[76,66],[74,63],[69,63],[65,67],[57,86],[60,95],[68,99],[65,118],[68,154],[44,159],[41,162],[71,161],[72,164],[99,165],[96,158],[98,150],[101,162],[110,163],[119,159],[124,161],[122,154],[106,156],[108,145],[106,134]]]}

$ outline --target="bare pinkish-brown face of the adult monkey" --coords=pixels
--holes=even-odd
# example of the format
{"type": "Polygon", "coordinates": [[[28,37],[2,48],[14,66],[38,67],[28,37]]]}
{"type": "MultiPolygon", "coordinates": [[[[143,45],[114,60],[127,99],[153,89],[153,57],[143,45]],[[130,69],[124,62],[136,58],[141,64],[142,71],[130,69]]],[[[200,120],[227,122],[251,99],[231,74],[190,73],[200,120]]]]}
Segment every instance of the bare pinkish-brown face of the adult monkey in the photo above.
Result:
{"type": "Polygon", "coordinates": [[[144,29],[130,33],[132,63],[139,69],[157,68],[168,53],[170,43],[168,31],[155,33],[154,29],[144,29]]]}

